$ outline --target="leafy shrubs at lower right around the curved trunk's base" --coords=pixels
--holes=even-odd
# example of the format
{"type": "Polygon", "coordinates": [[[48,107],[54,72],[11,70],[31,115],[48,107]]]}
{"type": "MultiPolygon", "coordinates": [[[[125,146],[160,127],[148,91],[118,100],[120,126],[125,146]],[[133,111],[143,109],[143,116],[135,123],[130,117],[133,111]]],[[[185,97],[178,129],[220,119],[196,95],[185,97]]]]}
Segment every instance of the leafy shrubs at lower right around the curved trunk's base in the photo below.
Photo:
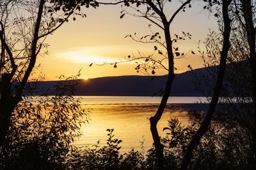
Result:
{"type": "MultiPolygon", "coordinates": [[[[190,123],[186,126],[180,124],[177,118],[168,121],[164,143],[164,168],[180,169],[186,146],[198,129],[203,112],[189,111],[190,123]]],[[[219,113],[218,115],[223,115],[219,113]]],[[[252,136],[248,129],[233,121],[222,121],[215,117],[204,138],[196,146],[189,169],[252,169],[248,164],[252,150],[250,143],[252,136]]],[[[156,168],[154,149],[148,150],[147,167],[156,168]]]]}

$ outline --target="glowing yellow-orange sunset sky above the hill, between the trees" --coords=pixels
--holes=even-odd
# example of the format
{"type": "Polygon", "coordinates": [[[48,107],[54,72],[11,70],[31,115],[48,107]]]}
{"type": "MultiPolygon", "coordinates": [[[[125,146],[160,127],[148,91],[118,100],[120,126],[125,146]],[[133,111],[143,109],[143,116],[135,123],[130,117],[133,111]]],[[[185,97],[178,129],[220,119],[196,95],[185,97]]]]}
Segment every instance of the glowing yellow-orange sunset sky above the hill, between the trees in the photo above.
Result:
{"type": "MultiPolygon", "coordinates": [[[[172,16],[179,3],[173,1],[166,5],[166,16],[172,16]],[[173,3],[174,2],[174,3],[173,3]]],[[[196,52],[198,50],[198,41],[204,41],[209,29],[217,28],[216,20],[203,10],[204,4],[194,1],[192,8],[185,13],[179,13],[170,27],[171,34],[181,34],[181,31],[192,34],[191,40],[185,40],[175,45],[179,46],[182,52],[189,50],[196,52]]],[[[102,64],[104,62],[116,62],[124,60],[127,55],[138,55],[138,52],[145,55],[154,51],[154,44],[138,43],[131,38],[124,38],[127,34],[136,34],[145,36],[150,33],[145,18],[138,18],[131,15],[125,15],[120,19],[120,5],[100,5],[99,8],[83,9],[86,18],[77,16],[76,21],[71,21],[62,25],[60,29],[48,36],[46,43],[49,54],[40,57],[37,64],[40,69],[33,74],[38,76],[39,72],[45,74],[45,80],[56,80],[58,76],[76,75],[81,69],[80,78],[97,78],[103,76],[122,76],[122,75],[141,75],[136,73],[134,62],[124,62],[118,64],[116,68],[113,65],[96,66],[90,63],[102,64]]],[[[152,24],[152,31],[161,32],[161,29],[152,24]]],[[[163,37],[163,35],[162,35],[163,37]]],[[[201,43],[201,48],[204,45],[201,43]]],[[[188,65],[194,69],[204,67],[202,59],[198,52],[196,55],[188,53],[184,59],[176,59],[176,73],[188,71],[188,65]]],[[[157,70],[156,74],[166,74],[166,71],[157,70]]]]}

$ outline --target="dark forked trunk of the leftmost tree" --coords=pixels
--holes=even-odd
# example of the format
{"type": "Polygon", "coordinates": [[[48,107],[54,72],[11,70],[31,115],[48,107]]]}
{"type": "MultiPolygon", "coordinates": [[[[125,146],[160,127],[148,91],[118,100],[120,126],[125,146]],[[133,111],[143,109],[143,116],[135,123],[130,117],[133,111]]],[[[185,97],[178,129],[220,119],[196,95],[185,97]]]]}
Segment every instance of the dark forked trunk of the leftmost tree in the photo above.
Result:
{"type": "MultiPolygon", "coordinates": [[[[36,62],[36,56],[38,55],[37,50],[37,43],[38,43],[38,34],[40,31],[40,24],[42,20],[42,14],[44,11],[44,4],[45,0],[40,0],[39,6],[38,6],[38,13],[36,14],[36,23],[35,23],[35,29],[34,29],[34,34],[33,34],[33,41],[31,43],[31,58],[29,59],[29,64],[28,64],[28,69],[25,71],[24,76],[22,78],[22,81],[19,84],[19,88],[15,92],[15,96],[12,94],[12,78],[13,75],[15,74],[15,71],[17,69],[17,66],[14,63],[12,52],[10,51],[9,46],[6,46],[6,50],[8,50],[8,55],[10,55],[10,59],[12,59],[12,73],[4,73],[1,75],[1,99],[0,99],[0,145],[3,143],[6,134],[8,132],[8,128],[10,127],[10,120],[12,117],[12,113],[21,100],[22,97],[22,92],[26,86],[26,83],[28,82],[29,75],[31,74],[31,71],[33,70],[33,67],[35,66],[36,62]]],[[[1,43],[5,43],[3,39],[1,39],[1,43]]],[[[14,92],[13,92],[14,93],[14,92]]]]}

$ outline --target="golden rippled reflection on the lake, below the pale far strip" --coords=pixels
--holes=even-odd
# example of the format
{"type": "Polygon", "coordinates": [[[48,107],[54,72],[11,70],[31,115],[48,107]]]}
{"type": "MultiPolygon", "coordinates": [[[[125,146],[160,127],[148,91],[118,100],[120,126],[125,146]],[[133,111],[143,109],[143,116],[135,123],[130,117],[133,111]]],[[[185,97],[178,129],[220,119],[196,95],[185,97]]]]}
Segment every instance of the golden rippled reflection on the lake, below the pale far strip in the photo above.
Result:
{"type": "MultiPolygon", "coordinates": [[[[189,121],[188,110],[200,106],[202,104],[168,104],[157,126],[160,136],[165,136],[163,128],[168,125],[170,118],[177,117],[186,125],[189,121]]],[[[122,153],[131,148],[140,150],[140,141],[143,139],[145,150],[152,146],[148,118],[156,113],[158,104],[83,104],[83,107],[92,108],[91,120],[82,126],[83,136],[75,141],[76,146],[92,146],[99,139],[102,146],[107,139],[106,129],[115,129],[115,138],[122,139],[122,153]]]]}

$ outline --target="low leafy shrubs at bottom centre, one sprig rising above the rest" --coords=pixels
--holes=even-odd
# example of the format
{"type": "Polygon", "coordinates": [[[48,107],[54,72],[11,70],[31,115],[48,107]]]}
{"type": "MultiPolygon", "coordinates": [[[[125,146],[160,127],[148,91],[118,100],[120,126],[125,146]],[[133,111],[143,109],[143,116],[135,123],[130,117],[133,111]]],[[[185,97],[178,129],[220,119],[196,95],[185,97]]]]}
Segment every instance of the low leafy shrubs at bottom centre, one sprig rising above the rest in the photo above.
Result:
{"type": "Polygon", "coordinates": [[[97,145],[76,148],[68,159],[69,169],[144,169],[145,161],[142,152],[134,151],[121,154],[122,140],[114,138],[114,129],[107,129],[108,139],[105,146],[97,145]]]}

